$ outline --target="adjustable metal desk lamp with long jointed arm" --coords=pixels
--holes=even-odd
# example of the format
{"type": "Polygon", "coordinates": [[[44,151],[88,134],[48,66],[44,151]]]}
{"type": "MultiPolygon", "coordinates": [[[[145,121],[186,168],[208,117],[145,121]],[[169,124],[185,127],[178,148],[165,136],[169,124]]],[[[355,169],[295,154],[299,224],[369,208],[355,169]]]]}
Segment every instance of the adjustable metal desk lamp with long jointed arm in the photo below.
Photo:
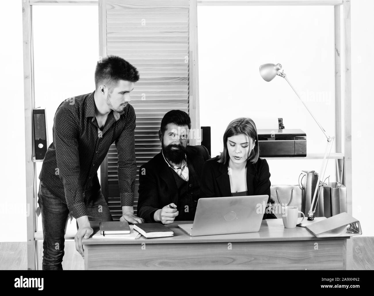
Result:
{"type": "MultiPolygon", "coordinates": [[[[314,121],[318,124],[319,128],[324,133],[325,137],[327,138],[327,145],[326,145],[326,150],[325,150],[325,154],[324,154],[324,158],[323,158],[323,161],[322,161],[321,171],[320,172],[321,172],[321,174],[323,172],[322,180],[325,180],[324,176],[325,176],[325,171],[326,171],[326,168],[327,168],[327,162],[328,162],[328,159],[329,159],[329,156],[330,156],[330,152],[331,152],[331,148],[332,148],[332,143],[334,142],[334,138],[335,137],[329,137],[329,135],[327,135],[327,133],[324,130],[324,128],[322,127],[322,125],[317,121],[317,119],[314,117],[314,115],[312,114],[312,112],[310,112],[309,108],[307,107],[307,105],[305,105],[305,103],[303,102],[303,100],[301,100],[301,98],[298,95],[298,93],[295,90],[295,88],[288,81],[288,79],[286,77],[286,74],[283,73],[283,70],[282,70],[282,72],[279,71],[281,69],[282,69],[282,65],[279,64],[279,63],[276,64],[276,65],[275,64],[264,64],[264,65],[260,66],[260,75],[267,82],[272,81],[274,79],[274,77],[276,77],[277,75],[280,76],[280,77],[283,77],[288,82],[289,86],[291,86],[292,90],[295,92],[295,94],[297,95],[297,97],[300,99],[301,103],[303,103],[303,105],[308,110],[308,112],[310,113],[310,115],[312,115],[314,121]],[[327,151],[328,151],[328,155],[327,155],[327,151]]],[[[319,221],[321,221],[323,219],[326,219],[325,217],[316,217],[314,215],[314,213],[316,212],[316,208],[317,208],[317,202],[318,202],[318,196],[319,196],[319,195],[317,196],[317,191],[318,191],[319,183],[320,183],[320,180],[321,180],[321,174],[318,174],[317,186],[316,186],[316,189],[314,191],[312,205],[310,206],[310,210],[309,210],[309,212],[307,214],[307,220],[305,222],[297,224],[298,226],[306,227],[307,225],[310,225],[310,224],[313,224],[315,222],[319,222],[319,221]],[[315,204],[315,207],[314,207],[314,210],[313,210],[313,205],[314,204],[315,204]]]]}

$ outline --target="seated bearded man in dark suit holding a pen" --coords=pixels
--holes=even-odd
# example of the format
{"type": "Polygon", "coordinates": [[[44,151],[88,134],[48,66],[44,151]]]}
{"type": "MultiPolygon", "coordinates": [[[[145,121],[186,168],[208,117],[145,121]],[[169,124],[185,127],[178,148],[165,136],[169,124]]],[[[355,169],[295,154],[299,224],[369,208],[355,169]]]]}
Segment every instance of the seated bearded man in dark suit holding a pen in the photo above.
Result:
{"type": "Polygon", "coordinates": [[[138,215],[146,222],[191,221],[200,197],[204,146],[187,146],[190,116],[171,110],[161,121],[162,150],[139,169],[138,215]]]}

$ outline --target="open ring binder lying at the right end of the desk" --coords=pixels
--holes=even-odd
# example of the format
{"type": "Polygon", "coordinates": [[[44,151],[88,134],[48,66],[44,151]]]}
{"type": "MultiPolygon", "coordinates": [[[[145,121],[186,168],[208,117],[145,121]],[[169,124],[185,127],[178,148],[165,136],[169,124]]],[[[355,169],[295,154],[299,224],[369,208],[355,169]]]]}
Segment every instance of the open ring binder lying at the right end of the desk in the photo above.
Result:
{"type": "Polygon", "coordinates": [[[347,213],[341,213],[308,225],[316,237],[353,236],[362,234],[360,222],[347,213]]]}

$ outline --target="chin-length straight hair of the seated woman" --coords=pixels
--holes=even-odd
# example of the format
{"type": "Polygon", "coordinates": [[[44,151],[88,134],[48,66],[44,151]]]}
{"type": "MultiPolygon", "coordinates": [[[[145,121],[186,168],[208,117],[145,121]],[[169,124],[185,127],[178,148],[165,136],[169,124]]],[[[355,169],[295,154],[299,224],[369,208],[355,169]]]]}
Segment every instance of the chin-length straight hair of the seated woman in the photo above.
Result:
{"type": "Polygon", "coordinates": [[[240,117],[230,122],[225,133],[223,134],[223,152],[221,152],[220,156],[218,156],[218,162],[227,163],[229,161],[230,156],[229,152],[227,151],[227,138],[239,134],[247,135],[248,138],[251,138],[253,141],[255,140],[255,146],[251,150],[251,153],[249,153],[247,161],[249,160],[251,163],[256,163],[258,161],[260,148],[258,147],[256,125],[251,118],[240,117]]]}

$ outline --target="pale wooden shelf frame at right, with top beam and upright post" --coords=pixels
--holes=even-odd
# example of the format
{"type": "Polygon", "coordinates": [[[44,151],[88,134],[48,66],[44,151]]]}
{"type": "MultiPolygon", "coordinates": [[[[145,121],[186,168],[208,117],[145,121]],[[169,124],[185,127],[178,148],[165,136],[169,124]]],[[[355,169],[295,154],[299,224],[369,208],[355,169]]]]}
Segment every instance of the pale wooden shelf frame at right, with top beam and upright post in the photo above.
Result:
{"type": "MultiPolygon", "coordinates": [[[[335,41],[335,153],[331,159],[337,162],[336,179],[347,187],[347,212],[352,215],[352,114],[351,114],[351,32],[350,32],[350,1],[351,0],[249,0],[249,1],[204,1],[197,0],[201,6],[334,6],[334,41],[335,41]],[[341,8],[342,7],[342,8],[341,8]],[[340,11],[343,10],[343,22],[340,11]],[[341,77],[341,27],[344,36],[344,77],[341,77]],[[344,86],[344,99],[341,96],[341,83],[344,86]],[[342,113],[344,104],[344,142],[342,139],[342,113]],[[342,153],[342,144],[344,152],[342,153]],[[344,168],[345,166],[345,168],[344,168]],[[344,172],[344,171],[345,172],[344,172]],[[343,181],[344,180],[344,181],[343,181]]],[[[323,153],[316,153],[306,158],[271,158],[273,159],[322,159],[323,153]]],[[[352,268],[353,260],[352,240],[347,240],[347,269],[352,268]]]]}

